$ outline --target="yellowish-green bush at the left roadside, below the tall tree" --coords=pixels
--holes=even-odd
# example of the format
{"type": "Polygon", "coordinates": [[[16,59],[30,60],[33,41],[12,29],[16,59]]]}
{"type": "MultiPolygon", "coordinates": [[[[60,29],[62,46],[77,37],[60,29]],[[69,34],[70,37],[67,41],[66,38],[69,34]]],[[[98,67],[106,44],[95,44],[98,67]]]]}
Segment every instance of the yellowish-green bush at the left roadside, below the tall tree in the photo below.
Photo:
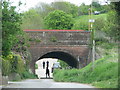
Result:
{"type": "Polygon", "coordinates": [[[22,73],[25,70],[24,62],[19,55],[9,54],[7,57],[2,58],[2,71],[3,75],[10,73],[22,73]]]}

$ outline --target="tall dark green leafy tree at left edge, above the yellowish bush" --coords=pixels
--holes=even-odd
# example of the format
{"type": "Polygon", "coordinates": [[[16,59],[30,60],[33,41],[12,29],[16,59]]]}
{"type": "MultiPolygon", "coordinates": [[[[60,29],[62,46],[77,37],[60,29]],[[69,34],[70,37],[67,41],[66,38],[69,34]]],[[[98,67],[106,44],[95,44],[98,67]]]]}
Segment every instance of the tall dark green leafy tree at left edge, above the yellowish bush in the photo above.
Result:
{"type": "Polygon", "coordinates": [[[2,2],[2,54],[7,56],[14,44],[17,43],[17,35],[22,34],[20,28],[21,14],[15,11],[15,6],[10,2],[2,2]]]}

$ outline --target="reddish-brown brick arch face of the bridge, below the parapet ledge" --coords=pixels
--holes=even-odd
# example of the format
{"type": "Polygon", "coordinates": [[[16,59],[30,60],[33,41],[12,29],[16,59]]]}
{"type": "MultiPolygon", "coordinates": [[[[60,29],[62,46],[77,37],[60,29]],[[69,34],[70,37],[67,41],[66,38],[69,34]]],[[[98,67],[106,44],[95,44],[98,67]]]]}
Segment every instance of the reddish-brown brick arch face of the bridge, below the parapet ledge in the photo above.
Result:
{"type": "MultiPolygon", "coordinates": [[[[47,53],[50,52],[63,52],[63,53],[67,53],[69,54],[69,56],[74,57],[74,59],[72,59],[72,61],[74,60],[74,62],[77,62],[78,57],[79,57],[79,62],[77,62],[77,64],[74,64],[73,67],[76,68],[82,68],[84,67],[88,61],[86,61],[87,59],[87,55],[89,52],[89,48],[87,46],[41,46],[41,47],[30,47],[30,52],[32,55],[32,61],[30,64],[31,70],[34,73],[35,72],[35,62],[38,61],[38,59],[42,56],[44,56],[47,53]]],[[[59,59],[59,58],[58,58],[59,59]]],[[[70,63],[69,63],[70,64],[70,63]]],[[[70,64],[71,65],[71,64],[70,64]]]]}

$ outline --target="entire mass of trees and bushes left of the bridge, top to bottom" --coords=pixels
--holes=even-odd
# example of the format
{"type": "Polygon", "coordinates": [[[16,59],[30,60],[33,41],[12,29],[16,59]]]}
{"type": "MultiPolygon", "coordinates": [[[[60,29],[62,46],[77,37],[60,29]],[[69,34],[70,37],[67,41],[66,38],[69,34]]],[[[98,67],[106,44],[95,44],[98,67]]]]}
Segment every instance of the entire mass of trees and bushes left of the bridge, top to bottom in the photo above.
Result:
{"type": "MultiPolygon", "coordinates": [[[[20,5],[20,3],[19,3],[20,5]]],[[[3,75],[7,76],[11,73],[18,75],[24,73],[28,69],[28,53],[27,37],[21,30],[22,14],[16,11],[16,6],[11,6],[9,1],[2,1],[2,71],[3,75]],[[11,53],[19,53],[20,55],[11,53]]]]}

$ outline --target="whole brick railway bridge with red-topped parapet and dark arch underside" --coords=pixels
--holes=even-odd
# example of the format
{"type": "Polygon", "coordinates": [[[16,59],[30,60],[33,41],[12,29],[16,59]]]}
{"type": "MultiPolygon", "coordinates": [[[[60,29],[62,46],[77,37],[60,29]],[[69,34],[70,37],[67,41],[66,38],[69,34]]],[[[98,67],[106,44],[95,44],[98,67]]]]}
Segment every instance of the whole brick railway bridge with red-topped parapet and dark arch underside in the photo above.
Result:
{"type": "Polygon", "coordinates": [[[30,41],[32,72],[35,62],[43,58],[57,58],[73,68],[90,62],[90,31],[84,30],[24,30],[30,41]]]}

